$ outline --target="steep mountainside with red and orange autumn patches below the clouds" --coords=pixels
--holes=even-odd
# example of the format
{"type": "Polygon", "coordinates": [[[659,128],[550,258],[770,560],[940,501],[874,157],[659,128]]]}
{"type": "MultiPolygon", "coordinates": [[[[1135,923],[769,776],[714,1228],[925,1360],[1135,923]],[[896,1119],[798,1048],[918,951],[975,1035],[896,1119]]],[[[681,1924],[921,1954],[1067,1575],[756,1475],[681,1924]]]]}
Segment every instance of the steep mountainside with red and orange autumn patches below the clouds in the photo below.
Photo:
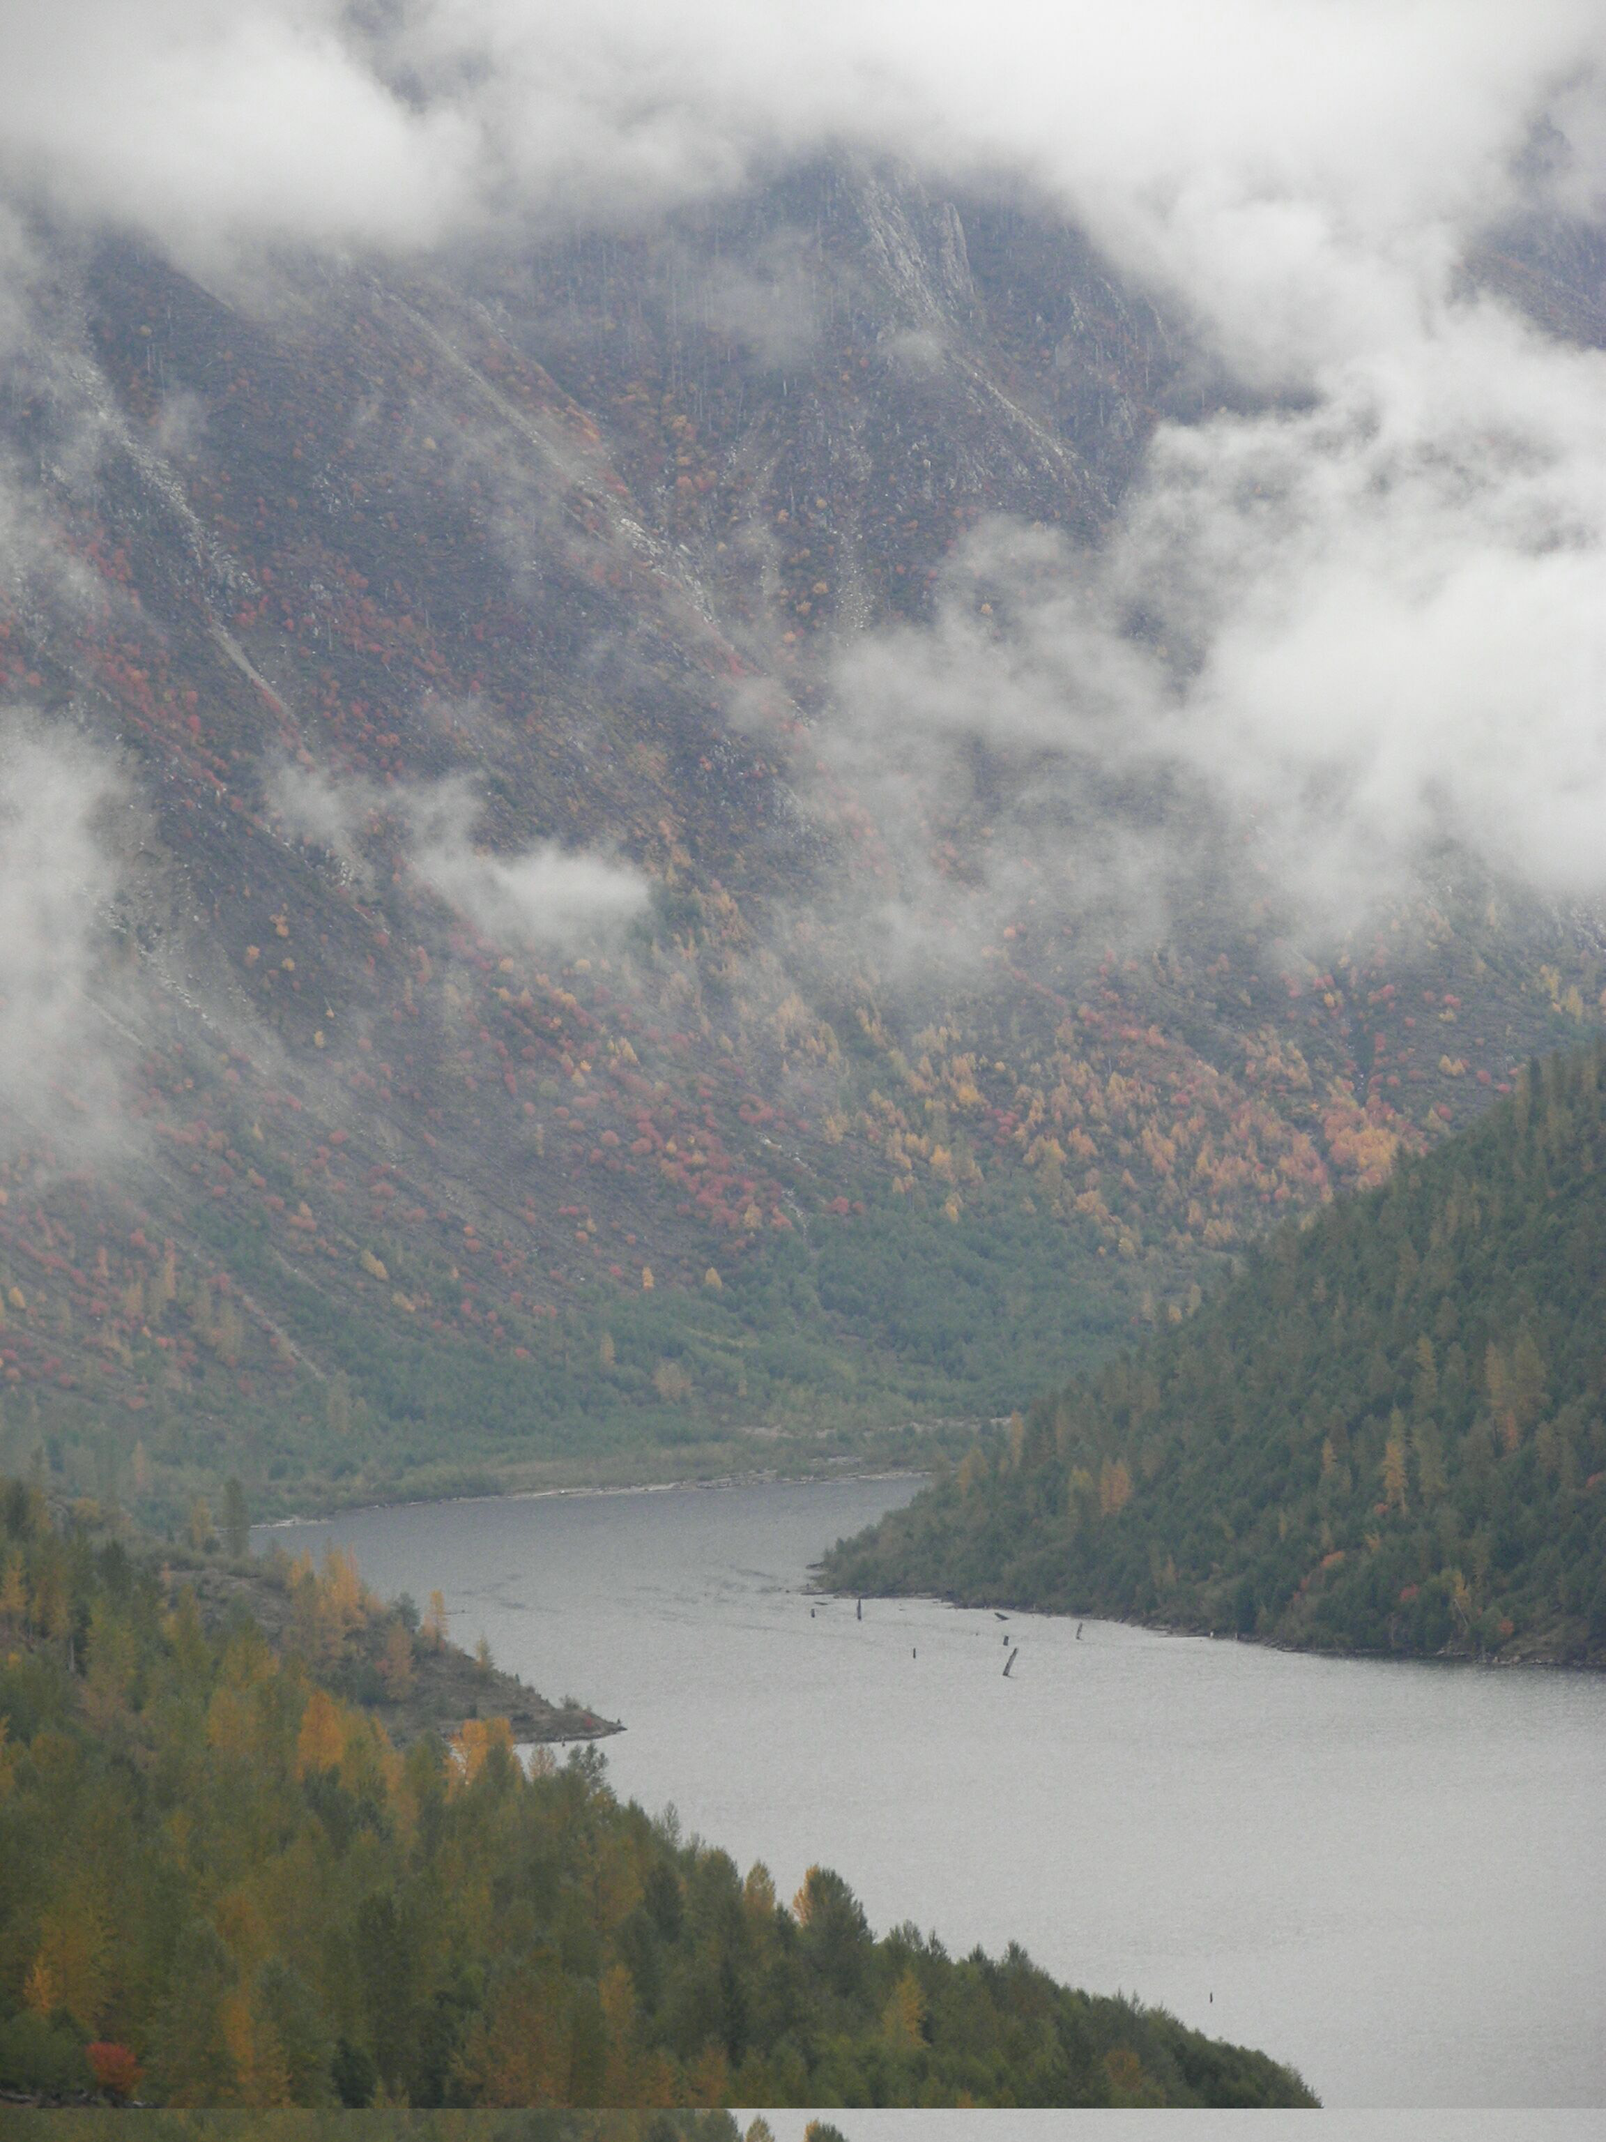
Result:
{"type": "Polygon", "coordinates": [[[852,649],[1006,634],[998,516],[1096,546],[1229,398],[1034,201],[837,159],[216,289],[45,238],[0,681],[103,883],[77,1024],[9,970],[17,1461],[272,1508],[991,1416],[1600,1017],[1593,921],[1454,857],[1300,951],[1186,797],[872,778],[852,649]]]}

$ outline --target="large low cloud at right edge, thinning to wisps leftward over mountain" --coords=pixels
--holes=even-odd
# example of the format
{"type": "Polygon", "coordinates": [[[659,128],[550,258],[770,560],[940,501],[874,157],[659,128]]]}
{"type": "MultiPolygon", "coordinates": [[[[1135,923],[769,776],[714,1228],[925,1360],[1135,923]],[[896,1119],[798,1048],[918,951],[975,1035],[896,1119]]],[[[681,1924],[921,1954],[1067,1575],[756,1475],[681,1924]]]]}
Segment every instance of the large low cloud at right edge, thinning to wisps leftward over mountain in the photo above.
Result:
{"type": "Polygon", "coordinates": [[[916,902],[944,820],[1000,908],[1024,863],[1158,893],[1201,827],[1315,930],[1445,846],[1606,893],[1606,356],[1475,298],[1407,356],[1163,428],[1101,553],[996,523],[931,628],[842,651],[822,750],[916,902]]]}

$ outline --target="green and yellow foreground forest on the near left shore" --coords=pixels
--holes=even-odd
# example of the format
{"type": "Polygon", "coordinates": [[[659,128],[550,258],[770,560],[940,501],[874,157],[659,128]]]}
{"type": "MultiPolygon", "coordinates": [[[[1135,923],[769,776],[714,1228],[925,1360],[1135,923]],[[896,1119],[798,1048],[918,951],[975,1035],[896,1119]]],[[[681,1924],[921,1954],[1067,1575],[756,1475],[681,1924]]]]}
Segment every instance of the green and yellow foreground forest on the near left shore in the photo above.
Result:
{"type": "MultiPolygon", "coordinates": [[[[233,1523],[242,1523],[236,1508],[233,1523]]],[[[236,1542],[238,1544],[238,1542],[236,1542]]],[[[276,1641],[0,1482],[0,2088],[169,2106],[1304,2103],[1019,1951],[874,1939],[812,1868],[621,1806],[505,1718],[400,1752],[443,1645],[330,1557],[276,1641]],[[379,1617],[385,1636],[375,1643],[379,1617]],[[375,1694],[383,1696],[383,1688],[375,1694]]]]}

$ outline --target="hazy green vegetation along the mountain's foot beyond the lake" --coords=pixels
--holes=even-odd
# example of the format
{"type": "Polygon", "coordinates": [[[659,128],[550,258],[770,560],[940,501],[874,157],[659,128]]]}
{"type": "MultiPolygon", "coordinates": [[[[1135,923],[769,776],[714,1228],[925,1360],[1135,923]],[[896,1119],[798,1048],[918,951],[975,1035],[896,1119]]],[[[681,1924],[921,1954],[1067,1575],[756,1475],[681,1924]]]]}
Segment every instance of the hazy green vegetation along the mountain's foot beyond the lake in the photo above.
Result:
{"type": "MultiPolygon", "coordinates": [[[[576,1285],[552,1315],[482,1315],[458,1277],[478,1319],[458,1328],[385,1307],[392,1283],[409,1300],[448,1285],[405,1242],[370,1234],[388,1277],[353,1311],[278,1257],[261,1215],[210,1204],[206,1255],[169,1262],[150,1238],[107,1253],[92,1307],[137,1294],[139,1322],[116,1334],[128,1388],[113,1397],[99,1367],[43,1384],[19,1371],[0,1397],[0,1467],[43,1452],[58,1493],[171,1525],[231,1474],[276,1517],[754,1463],[807,1472],[837,1454],[921,1463],[929,1446],[910,1422],[942,1422],[957,1454],[970,1422],[1116,1343],[1152,1285],[1120,1259],[1096,1283],[1094,1247],[1004,1185],[972,1191],[957,1219],[874,1189],[861,1206],[775,1232],[698,1285],[576,1285]],[[263,1300],[289,1334],[278,1345],[251,1326],[263,1300]]],[[[0,1296],[4,1274],[0,1262],[0,1296]]],[[[19,1343],[19,1324],[13,1307],[0,1339],[19,1343]]]]}

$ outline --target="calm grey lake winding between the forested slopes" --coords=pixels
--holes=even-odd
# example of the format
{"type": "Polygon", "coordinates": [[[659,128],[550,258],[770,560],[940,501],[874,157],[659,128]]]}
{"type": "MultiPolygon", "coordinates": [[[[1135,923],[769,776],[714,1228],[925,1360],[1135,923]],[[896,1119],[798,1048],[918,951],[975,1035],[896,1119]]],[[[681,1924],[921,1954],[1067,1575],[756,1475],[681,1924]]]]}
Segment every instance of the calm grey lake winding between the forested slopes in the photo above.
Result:
{"type": "Polygon", "coordinates": [[[835,1866],[878,1928],[1017,1939],[1330,2106],[1606,2103],[1606,1681],[809,1600],[824,1547],[910,1493],[433,1504],[276,1538],[439,1587],[458,1641],[625,1722],[621,1795],[784,1896],[835,1866]]]}

